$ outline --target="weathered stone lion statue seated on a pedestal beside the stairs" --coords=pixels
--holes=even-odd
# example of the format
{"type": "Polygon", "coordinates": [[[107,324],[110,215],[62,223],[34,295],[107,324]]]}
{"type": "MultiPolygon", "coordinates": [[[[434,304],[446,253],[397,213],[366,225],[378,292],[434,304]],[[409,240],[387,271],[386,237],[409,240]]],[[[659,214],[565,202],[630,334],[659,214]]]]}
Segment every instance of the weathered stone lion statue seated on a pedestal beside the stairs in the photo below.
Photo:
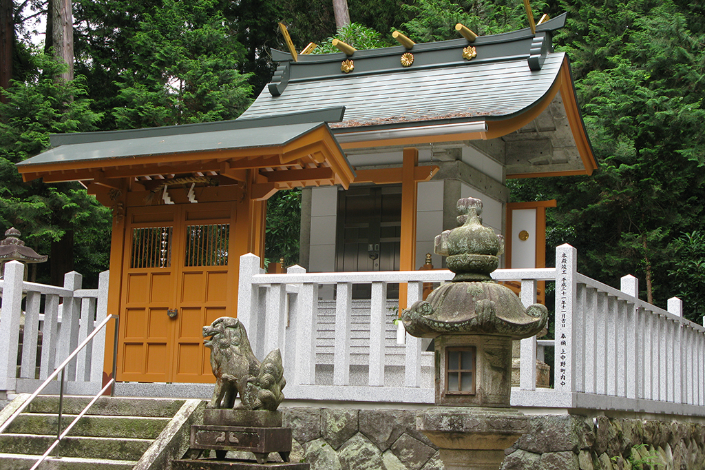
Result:
{"type": "Polygon", "coordinates": [[[252,354],[245,327],[237,318],[221,317],[203,327],[206,347],[211,349],[211,366],[216,376],[213,398],[206,405],[210,409],[235,408],[235,397],[240,395],[238,409],[277,409],[286,385],[278,349],[257,361],[252,354]]]}

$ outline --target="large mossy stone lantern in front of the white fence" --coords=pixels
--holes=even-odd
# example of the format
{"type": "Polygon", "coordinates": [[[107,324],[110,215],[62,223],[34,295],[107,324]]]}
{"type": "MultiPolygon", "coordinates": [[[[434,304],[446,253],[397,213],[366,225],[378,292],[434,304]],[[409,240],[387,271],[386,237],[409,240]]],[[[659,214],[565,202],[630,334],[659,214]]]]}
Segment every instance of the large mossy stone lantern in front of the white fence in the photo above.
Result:
{"type": "Polygon", "coordinates": [[[434,338],[436,407],[417,427],[441,448],[446,470],[496,470],[528,427],[509,409],[512,341],[546,325],[541,304],[524,308],[514,292],[494,282],[503,239],[482,225],[482,201],[458,201],[460,227],[436,236],[435,251],[455,272],[425,301],[404,311],[410,335],[434,338]]]}

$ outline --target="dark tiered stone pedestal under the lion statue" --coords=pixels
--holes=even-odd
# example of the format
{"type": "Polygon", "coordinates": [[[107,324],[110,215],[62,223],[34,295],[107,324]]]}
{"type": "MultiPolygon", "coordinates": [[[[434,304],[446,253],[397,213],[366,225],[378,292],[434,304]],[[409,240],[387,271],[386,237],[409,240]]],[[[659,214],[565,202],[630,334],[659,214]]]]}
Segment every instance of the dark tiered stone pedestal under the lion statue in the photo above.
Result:
{"type": "Polygon", "coordinates": [[[289,462],[291,429],[281,426],[281,411],[206,409],[203,424],[191,426],[190,459],[174,462],[174,470],[309,470],[310,464],[289,462]],[[205,450],[216,458],[200,458],[205,450]],[[229,450],[250,452],[255,462],[228,460],[229,450]],[[283,462],[268,462],[277,452],[283,462]]]}

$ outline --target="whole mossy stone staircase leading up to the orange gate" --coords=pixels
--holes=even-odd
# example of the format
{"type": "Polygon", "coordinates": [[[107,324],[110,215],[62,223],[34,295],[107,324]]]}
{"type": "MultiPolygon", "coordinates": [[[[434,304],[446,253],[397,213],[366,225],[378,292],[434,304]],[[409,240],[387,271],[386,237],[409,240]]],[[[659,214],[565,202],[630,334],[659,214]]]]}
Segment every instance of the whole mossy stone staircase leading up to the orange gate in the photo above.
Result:
{"type": "MultiPolygon", "coordinates": [[[[0,423],[25,399],[20,395],[0,411],[0,423]]],[[[64,397],[62,427],[88,402],[64,397]]],[[[188,450],[190,426],[202,409],[197,399],[101,397],[61,441],[61,458],[47,457],[39,469],[168,470],[188,450]]],[[[58,411],[58,397],[37,397],[0,434],[0,469],[31,468],[56,439],[58,411]]]]}

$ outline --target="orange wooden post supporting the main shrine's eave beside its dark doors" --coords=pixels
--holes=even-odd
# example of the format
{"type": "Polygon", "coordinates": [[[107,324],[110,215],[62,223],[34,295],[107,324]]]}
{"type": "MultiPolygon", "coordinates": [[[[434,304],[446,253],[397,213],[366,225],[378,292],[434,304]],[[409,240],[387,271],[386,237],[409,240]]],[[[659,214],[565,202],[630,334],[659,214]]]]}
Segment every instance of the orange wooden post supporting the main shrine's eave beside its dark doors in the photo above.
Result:
{"type": "MultiPolygon", "coordinates": [[[[419,150],[405,148],[401,181],[401,237],[399,269],[413,271],[416,269],[416,206],[419,185],[414,178],[414,171],[419,164],[419,150]]],[[[407,284],[399,285],[399,313],[407,308],[407,284]]]]}

